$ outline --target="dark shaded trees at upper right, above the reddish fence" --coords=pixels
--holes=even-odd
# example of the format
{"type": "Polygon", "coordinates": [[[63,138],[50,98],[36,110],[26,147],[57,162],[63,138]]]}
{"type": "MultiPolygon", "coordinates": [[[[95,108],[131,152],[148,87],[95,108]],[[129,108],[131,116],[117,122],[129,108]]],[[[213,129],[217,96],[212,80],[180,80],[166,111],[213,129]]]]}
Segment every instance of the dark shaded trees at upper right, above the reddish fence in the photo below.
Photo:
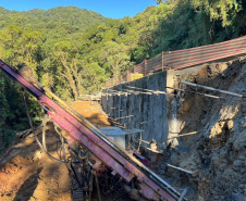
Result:
{"type": "Polygon", "coordinates": [[[151,55],[162,50],[216,43],[246,34],[245,1],[169,0],[161,5],[171,8],[171,12],[151,36],[155,38],[151,55]]]}

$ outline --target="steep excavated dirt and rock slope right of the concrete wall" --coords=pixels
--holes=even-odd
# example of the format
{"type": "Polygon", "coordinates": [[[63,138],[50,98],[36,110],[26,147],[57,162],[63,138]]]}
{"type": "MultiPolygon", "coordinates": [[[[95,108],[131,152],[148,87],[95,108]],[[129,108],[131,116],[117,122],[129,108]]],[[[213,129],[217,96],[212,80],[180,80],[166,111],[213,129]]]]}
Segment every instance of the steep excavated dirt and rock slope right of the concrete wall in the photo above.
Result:
{"type": "MultiPolygon", "coordinates": [[[[246,95],[246,59],[205,65],[193,78],[200,85],[246,95]]],[[[170,176],[176,178],[173,185],[187,186],[193,192],[190,200],[245,201],[246,99],[194,87],[187,89],[222,99],[180,95],[181,134],[197,134],[179,138],[180,147],[172,151],[169,163],[195,174],[169,169],[170,176]]]]}

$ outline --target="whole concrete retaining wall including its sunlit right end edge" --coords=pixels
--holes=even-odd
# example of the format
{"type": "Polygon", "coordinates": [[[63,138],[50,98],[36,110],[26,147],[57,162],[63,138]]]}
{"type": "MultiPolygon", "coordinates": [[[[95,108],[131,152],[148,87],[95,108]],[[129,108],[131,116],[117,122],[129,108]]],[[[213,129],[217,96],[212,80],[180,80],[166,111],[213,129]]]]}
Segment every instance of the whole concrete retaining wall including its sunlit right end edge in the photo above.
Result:
{"type": "MultiPolygon", "coordinates": [[[[182,117],[179,114],[179,109],[182,104],[181,91],[175,91],[173,88],[180,88],[179,79],[193,81],[194,76],[200,72],[201,68],[207,68],[207,64],[189,67],[182,71],[168,70],[167,72],[156,73],[148,77],[137,79],[135,81],[114,86],[111,89],[102,91],[101,104],[103,111],[118,123],[124,125],[126,128],[144,129],[144,140],[156,139],[161,146],[162,142],[172,143],[172,147],[180,145],[180,139],[171,139],[180,134],[182,117]],[[153,91],[167,91],[163,93],[127,93],[130,86],[153,91]],[[171,88],[169,88],[171,87],[171,88]],[[113,92],[112,90],[119,91],[113,92]],[[128,117],[134,115],[133,117],[128,117]]],[[[181,87],[182,88],[182,87],[181,87]]],[[[147,92],[146,90],[144,90],[147,92]]]]}

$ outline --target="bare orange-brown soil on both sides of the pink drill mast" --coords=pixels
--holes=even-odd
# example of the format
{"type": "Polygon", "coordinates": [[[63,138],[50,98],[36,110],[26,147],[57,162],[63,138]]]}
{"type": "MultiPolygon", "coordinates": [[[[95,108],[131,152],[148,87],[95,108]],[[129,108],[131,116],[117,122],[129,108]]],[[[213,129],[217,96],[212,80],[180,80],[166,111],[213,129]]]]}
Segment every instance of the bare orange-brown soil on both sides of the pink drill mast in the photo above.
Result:
{"type": "MultiPolygon", "coordinates": [[[[99,104],[93,102],[72,103],[78,113],[98,126],[109,126],[99,104]]],[[[52,124],[47,127],[47,148],[59,158],[60,140],[53,135],[52,124]]],[[[40,138],[41,128],[37,129],[40,138]]],[[[63,163],[51,161],[39,148],[30,134],[19,137],[0,155],[1,201],[70,201],[71,178],[63,163]]]]}

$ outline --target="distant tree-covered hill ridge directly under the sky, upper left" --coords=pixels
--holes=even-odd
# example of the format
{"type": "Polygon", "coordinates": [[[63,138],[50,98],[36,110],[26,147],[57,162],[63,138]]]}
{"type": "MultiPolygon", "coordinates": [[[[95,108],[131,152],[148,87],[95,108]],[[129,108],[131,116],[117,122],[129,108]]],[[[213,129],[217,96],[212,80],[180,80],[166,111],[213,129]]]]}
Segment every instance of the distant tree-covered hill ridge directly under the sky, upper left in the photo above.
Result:
{"type": "Polygon", "coordinates": [[[10,23],[35,29],[54,28],[56,26],[69,24],[83,30],[90,25],[104,23],[108,20],[99,13],[75,7],[59,7],[48,11],[34,9],[23,12],[0,8],[0,28],[10,23]]]}

